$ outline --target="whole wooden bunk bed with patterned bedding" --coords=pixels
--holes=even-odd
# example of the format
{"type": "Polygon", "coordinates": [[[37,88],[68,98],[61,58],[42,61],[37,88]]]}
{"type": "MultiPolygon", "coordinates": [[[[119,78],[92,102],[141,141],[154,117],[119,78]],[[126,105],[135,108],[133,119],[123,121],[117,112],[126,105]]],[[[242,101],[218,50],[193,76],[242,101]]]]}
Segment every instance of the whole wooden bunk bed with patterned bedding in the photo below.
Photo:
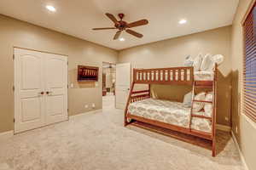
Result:
{"type": "Polygon", "coordinates": [[[194,72],[193,66],[133,69],[131,91],[125,107],[125,126],[142,122],[140,127],[144,123],[207,139],[211,141],[212,156],[216,156],[217,71],[217,64],[212,72],[194,72]],[[134,91],[135,84],[148,84],[148,89],[134,91]],[[192,105],[184,107],[180,102],[152,98],[152,84],[192,86],[192,105]],[[200,89],[211,91],[212,99],[196,100],[195,93],[200,89]],[[210,103],[212,112],[193,111],[193,105],[201,103],[210,103]]]}

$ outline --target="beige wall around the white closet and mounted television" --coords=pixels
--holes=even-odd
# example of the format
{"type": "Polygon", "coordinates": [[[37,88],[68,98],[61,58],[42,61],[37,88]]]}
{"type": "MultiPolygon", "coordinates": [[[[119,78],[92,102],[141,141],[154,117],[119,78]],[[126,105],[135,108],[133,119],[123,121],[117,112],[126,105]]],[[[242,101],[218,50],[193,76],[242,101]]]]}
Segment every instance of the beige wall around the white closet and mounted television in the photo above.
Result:
{"type": "Polygon", "coordinates": [[[102,77],[98,87],[94,83],[78,84],[77,65],[99,66],[101,74],[102,61],[116,63],[116,51],[0,15],[0,133],[14,129],[14,46],[68,55],[69,84],[74,84],[68,89],[70,116],[92,110],[84,109],[85,104],[95,103],[96,109],[102,108],[102,77]]]}

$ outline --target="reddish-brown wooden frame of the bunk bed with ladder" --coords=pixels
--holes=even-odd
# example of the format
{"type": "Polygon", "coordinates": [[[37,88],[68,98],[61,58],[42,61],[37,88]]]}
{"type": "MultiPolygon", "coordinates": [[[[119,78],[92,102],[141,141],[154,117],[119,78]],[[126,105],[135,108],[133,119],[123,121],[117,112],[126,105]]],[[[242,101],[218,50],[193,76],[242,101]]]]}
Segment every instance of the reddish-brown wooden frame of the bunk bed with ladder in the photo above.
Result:
{"type": "MultiPolygon", "coordinates": [[[[215,65],[214,68],[214,77],[213,81],[195,81],[194,79],[194,67],[173,67],[173,68],[160,68],[160,69],[133,69],[133,81],[131,84],[131,90],[127,104],[125,107],[125,123],[127,126],[133,124],[132,122],[142,122],[139,127],[143,127],[144,124],[150,124],[155,127],[163,127],[170,129],[172,131],[177,131],[178,133],[189,134],[201,139],[207,139],[212,142],[212,156],[216,156],[216,107],[217,107],[217,73],[218,65],[215,65]],[[134,91],[135,84],[148,84],[148,90],[134,91]],[[196,88],[212,88],[213,99],[212,99],[212,116],[198,116],[193,115],[191,108],[190,122],[189,127],[179,127],[176,125],[168,124],[165,122],[159,122],[151,119],[147,119],[141,116],[134,116],[128,112],[128,107],[130,103],[136,102],[143,99],[148,99],[151,96],[150,85],[151,84],[166,84],[166,85],[188,85],[193,86],[193,100],[192,107],[194,102],[207,102],[202,100],[195,100],[194,94],[196,88]],[[205,133],[199,130],[191,129],[191,120],[192,117],[205,118],[212,121],[212,133],[205,133]],[[127,121],[127,118],[131,119],[131,122],[127,121]]],[[[136,125],[136,124],[134,124],[136,125]]],[[[148,127],[145,127],[148,129],[148,127]]],[[[149,128],[150,129],[150,128],[149,128]]]]}

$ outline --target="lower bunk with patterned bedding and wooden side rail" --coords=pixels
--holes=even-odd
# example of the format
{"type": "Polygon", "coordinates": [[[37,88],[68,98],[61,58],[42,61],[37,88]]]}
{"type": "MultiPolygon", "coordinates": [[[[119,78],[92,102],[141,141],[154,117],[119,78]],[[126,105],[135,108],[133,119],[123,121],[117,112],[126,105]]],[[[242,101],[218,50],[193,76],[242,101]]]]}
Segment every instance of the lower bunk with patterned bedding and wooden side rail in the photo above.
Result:
{"type": "MultiPolygon", "coordinates": [[[[163,127],[179,133],[207,139],[212,141],[212,156],[215,156],[215,138],[212,135],[211,122],[212,113],[198,112],[194,113],[194,115],[191,117],[191,108],[185,107],[183,103],[152,99],[148,96],[130,103],[125,114],[125,126],[131,124],[154,131],[158,129],[156,131],[158,133],[166,132],[164,129],[160,130],[160,127],[163,127]],[[202,116],[206,118],[202,118],[202,116]],[[152,125],[156,128],[152,128],[154,127],[152,125]]],[[[164,134],[168,135],[168,133],[164,134]]]]}

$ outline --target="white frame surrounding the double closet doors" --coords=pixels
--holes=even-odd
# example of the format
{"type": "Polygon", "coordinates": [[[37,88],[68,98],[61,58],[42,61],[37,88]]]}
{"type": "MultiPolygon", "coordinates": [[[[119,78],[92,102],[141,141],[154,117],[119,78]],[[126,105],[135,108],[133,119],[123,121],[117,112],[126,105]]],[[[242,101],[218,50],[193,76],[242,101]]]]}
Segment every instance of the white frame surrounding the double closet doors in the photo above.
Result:
{"type": "MultiPolygon", "coordinates": [[[[22,47],[18,47],[18,46],[13,46],[13,55],[12,55],[12,58],[13,58],[13,68],[14,68],[14,83],[13,83],[13,101],[14,101],[14,112],[13,112],[13,117],[14,117],[14,124],[13,124],[13,129],[14,129],[14,134],[17,134],[16,133],[16,130],[15,130],[15,118],[16,118],[16,114],[17,114],[17,104],[16,104],[16,90],[15,90],[15,87],[17,86],[16,84],[16,77],[17,77],[17,72],[16,72],[16,68],[17,68],[17,65],[16,65],[16,62],[15,62],[15,48],[17,49],[24,49],[24,50],[30,50],[30,51],[34,51],[34,52],[39,52],[39,53],[44,53],[44,54],[55,54],[55,55],[61,55],[63,57],[67,57],[67,121],[69,121],[69,112],[68,112],[68,83],[69,83],[69,79],[68,79],[68,55],[67,54],[58,54],[58,53],[52,53],[52,52],[49,52],[49,51],[44,51],[44,50],[38,50],[38,49],[34,49],[34,48],[22,48],[22,47]]],[[[56,123],[59,123],[59,122],[56,122],[56,123]]],[[[55,123],[53,123],[55,124],[55,123]]],[[[42,126],[42,127],[47,127],[49,125],[45,125],[45,126],[42,126]]],[[[36,127],[36,128],[32,128],[30,130],[33,130],[33,129],[37,129],[37,128],[41,128],[41,127],[36,127]]],[[[30,131],[30,130],[27,130],[27,131],[30,131]]],[[[19,132],[19,133],[24,133],[26,131],[23,131],[23,132],[19,132]]]]}

